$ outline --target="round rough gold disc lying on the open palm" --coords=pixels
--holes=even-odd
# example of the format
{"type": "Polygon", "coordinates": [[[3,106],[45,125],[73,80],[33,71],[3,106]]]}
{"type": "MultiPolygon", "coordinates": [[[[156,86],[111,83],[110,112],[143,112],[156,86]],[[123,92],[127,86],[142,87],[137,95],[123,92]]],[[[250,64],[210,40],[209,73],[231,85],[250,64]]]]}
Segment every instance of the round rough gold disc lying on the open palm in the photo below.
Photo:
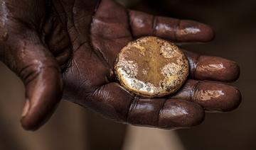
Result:
{"type": "Polygon", "coordinates": [[[189,64],[173,43],[158,37],[142,37],[121,50],[114,69],[124,88],[152,98],[181,88],[188,77],[189,64]]]}

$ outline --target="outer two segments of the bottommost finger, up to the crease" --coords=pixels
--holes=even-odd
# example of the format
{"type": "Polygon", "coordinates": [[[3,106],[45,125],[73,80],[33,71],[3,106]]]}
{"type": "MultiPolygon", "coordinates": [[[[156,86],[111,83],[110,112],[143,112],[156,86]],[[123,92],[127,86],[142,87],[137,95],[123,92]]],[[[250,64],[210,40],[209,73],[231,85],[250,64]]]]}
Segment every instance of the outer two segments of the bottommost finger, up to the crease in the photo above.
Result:
{"type": "Polygon", "coordinates": [[[132,125],[178,129],[193,127],[203,121],[204,111],[196,103],[178,99],[157,100],[139,99],[133,102],[127,122],[132,125]]]}

